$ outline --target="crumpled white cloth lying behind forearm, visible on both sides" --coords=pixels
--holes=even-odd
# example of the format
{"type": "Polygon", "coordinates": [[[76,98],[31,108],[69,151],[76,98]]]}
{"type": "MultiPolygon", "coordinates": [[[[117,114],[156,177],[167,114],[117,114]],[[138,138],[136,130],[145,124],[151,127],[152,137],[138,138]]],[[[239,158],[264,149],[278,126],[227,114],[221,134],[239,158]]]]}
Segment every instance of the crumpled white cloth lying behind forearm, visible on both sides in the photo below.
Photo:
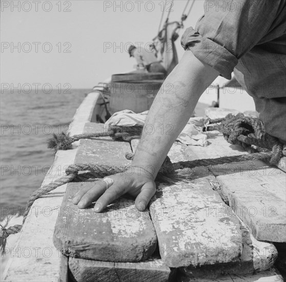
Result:
{"type": "MultiPolygon", "coordinates": [[[[113,114],[105,126],[144,126],[147,115],[148,111],[136,114],[130,110],[123,110],[113,114]]],[[[206,147],[208,135],[202,132],[203,127],[203,117],[191,117],[177,140],[186,145],[206,147]]]]}

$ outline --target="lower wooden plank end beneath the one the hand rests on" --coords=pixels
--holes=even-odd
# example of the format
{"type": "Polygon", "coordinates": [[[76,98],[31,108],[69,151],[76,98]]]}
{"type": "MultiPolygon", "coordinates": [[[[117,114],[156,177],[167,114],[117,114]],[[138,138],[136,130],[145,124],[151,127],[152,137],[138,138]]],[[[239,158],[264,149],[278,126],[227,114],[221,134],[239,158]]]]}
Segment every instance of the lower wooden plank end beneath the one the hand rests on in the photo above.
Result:
{"type": "Polygon", "coordinates": [[[69,268],[77,282],[168,282],[175,272],[158,255],[140,263],[111,263],[71,257],[69,268]]]}

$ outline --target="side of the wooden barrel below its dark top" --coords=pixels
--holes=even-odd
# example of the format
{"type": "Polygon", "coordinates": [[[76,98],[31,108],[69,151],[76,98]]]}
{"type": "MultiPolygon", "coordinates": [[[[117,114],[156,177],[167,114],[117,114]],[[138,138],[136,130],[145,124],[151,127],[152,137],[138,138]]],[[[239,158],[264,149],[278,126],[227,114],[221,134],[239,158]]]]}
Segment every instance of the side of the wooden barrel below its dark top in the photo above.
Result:
{"type": "Polygon", "coordinates": [[[112,82],[109,110],[113,114],[122,110],[135,113],[150,109],[164,80],[142,80],[132,82],[112,82]]]}

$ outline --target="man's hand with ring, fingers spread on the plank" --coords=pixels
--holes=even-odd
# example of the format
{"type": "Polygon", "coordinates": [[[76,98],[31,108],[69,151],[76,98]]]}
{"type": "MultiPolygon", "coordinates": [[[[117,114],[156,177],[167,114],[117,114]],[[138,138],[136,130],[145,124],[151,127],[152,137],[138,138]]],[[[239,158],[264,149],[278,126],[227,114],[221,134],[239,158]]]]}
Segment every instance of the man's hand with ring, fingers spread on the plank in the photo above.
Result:
{"type": "Polygon", "coordinates": [[[136,197],[136,208],[139,211],[144,211],[156,191],[153,176],[138,175],[134,171],[130,174],[126,171],[123,175],[118,173],[109,176],[114,180],[114,183],[108,189],[106,189],[107,183],[103,180],[87,182],[86,187],[81,189],[73,198],[73,204],[77,205],[79,209],[84,209],[96,201],[94,211],[101,212],[115,199],[128,193],[136,197]]]}

